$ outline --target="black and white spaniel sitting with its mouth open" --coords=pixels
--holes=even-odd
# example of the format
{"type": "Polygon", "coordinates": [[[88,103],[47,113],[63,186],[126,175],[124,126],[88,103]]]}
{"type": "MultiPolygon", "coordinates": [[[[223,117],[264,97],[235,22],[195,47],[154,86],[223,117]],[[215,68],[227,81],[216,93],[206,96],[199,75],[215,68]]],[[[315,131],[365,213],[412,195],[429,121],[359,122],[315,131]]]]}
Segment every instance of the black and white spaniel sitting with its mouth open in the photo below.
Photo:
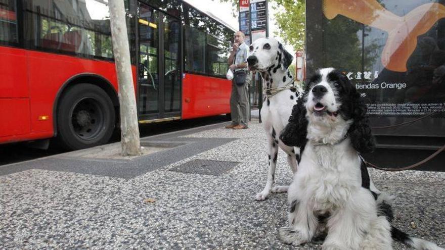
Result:
{"type": "Polygon", "coordinates": [[[375,145],[366,105],[344,74],[319,70],[280,138],[302,151],[288,189],[289,226],[280,228],[281,240],[300,245],[325,234],[325,250],[392,249],[392,239],[416,249],[442,249],[390,225],[391,197],[370,188],[360,158],[375,145]]]}

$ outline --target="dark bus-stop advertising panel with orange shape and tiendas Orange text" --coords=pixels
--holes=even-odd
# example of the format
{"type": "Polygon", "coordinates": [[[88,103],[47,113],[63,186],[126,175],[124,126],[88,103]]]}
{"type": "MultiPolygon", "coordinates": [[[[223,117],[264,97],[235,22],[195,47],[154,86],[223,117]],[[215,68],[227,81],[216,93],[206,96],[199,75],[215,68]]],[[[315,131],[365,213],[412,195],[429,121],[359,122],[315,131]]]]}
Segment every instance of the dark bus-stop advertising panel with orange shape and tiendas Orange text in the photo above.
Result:
{"type": "Polygon", "coordinates": [[[437,112],[379,133],[445,136],[445,1],[311,1],[306,13],[308,74],[343,71],[377,126],[437,112]]]}

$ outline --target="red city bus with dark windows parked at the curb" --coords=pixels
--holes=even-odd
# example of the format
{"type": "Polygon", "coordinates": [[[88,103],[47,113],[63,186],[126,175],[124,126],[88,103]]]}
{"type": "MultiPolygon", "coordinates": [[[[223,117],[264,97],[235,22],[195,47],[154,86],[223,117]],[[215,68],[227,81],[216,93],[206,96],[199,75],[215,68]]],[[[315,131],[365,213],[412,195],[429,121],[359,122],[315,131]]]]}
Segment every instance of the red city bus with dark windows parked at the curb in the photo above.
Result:
{"type": "MultiPolygon", "coordinates": [[[[139,122],[230,113],[233,29],[180,0],[125,0],[139,122]]],[[[0,143],[106,143],[119,125],[107,0],[0,0],[0,143]]]]}

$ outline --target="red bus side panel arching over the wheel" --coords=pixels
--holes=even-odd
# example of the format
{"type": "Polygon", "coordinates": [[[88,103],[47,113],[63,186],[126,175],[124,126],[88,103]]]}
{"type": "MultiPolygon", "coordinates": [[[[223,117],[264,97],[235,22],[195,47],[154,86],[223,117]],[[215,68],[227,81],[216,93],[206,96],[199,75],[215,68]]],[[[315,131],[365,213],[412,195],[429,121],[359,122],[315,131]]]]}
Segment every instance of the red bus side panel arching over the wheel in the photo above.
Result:
{"type": "MultiPolygon", "coordinates": [[[[32,132],[53,131],[53,104],[62,85],[75,75],[97,74],[117,89],[114,64],[41,52],[28,52],[32,132]],[[48,120],[38,120],[49,116],[48,120]]],[[[117,90],[116,90],[117,92],[117,90]]]]}

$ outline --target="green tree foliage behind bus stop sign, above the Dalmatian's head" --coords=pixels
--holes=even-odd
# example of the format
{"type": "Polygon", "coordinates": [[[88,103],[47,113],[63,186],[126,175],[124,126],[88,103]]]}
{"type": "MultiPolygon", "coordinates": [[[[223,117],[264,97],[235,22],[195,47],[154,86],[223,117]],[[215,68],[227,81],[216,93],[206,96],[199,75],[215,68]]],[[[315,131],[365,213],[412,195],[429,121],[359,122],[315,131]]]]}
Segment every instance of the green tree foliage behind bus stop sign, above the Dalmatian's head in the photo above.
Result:
{"type": "MultiPolygon", "coordinates": [[[[215,0],[213,0],[215,1],[215,0]]],[[[232,3],[232,12],[237,15],[239,0],[219,0],[219,2],[232,3]]],[[[284,42],[293,46],[295,51],[304,47],[306,39],[306,1],[305,0],[269,0],[269,6],[276,10],[274,17],[278,29],[273,33],[284,39],[284,42]]]]}

